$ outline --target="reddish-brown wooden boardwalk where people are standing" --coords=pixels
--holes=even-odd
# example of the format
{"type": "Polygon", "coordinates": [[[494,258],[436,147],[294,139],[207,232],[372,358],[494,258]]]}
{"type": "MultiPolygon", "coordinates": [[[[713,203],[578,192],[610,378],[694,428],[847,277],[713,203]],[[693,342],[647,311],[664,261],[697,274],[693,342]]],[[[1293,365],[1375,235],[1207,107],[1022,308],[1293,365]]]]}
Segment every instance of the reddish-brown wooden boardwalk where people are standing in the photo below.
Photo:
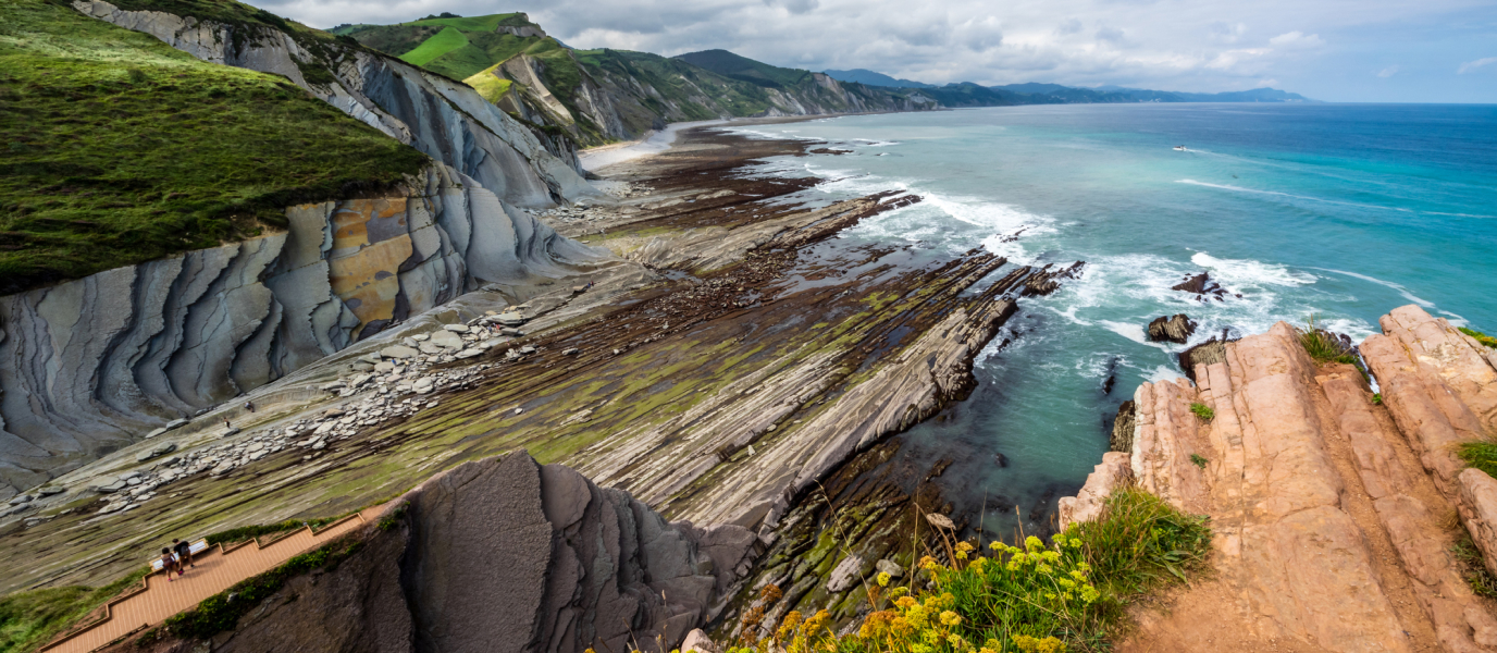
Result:
{"type": "MultiPolygon", "coordinates": [[[[202,599],[217,595],[235,583],[271,571],[296,554],[331,542],[362,526],[377,511],[379,506],[370,508],[317,532],[301,529],[274,541],[269,538],[277,536],[231,545],[228,550],[213,547],[198,554],[198,559],[193,560],[198,566],[187,569],[187,575],[174,577],[171,581],[162,572],[147,575],[144,584],[133,593],[115,598],[105,605],[99,622],[72,631],[42,650],[48,653],[88,653],[105,647],[135,631],[154,626],[165,622],[166,617],[193,608],[202,599]]],[[[142,560],[142,563],[145,562],[150,560],[142,560]]]]}

